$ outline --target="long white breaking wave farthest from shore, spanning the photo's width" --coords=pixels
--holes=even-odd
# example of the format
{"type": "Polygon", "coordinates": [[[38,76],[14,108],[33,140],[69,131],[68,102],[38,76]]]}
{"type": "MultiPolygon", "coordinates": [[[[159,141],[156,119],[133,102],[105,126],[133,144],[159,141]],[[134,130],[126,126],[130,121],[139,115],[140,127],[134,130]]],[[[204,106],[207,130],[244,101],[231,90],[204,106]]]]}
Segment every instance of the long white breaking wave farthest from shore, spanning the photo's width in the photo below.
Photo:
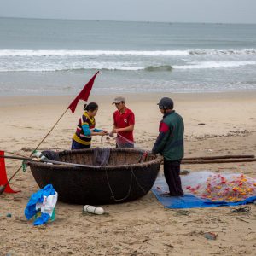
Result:
{"type": "Polygon", "coordinates": [[[256,49],[185,49],[185,50],[71,50],[71,49],[0,49],[0,57],[49,56],[158,56],[158,55],[256,55],[256,49]]]}

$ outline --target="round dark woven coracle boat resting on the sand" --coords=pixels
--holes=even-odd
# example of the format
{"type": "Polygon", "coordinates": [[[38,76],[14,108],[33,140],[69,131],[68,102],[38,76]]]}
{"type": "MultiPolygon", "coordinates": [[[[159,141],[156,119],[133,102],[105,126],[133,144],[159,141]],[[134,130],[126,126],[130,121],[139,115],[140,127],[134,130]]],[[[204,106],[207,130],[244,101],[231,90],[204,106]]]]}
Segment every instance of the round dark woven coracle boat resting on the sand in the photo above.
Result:
{"type": "Polygon", "coordinates": [[[61,162],[80,166],[37,161],[27,164],[41,189],[52,184],[59,200],[67,203],[111,204],[136,200],[148,193],[160,170],[160,155],[131,148],[100,149],[102,157],[96,148],[58,153],[61,162]],[[99,165],[104,157],[104,165],[99,165]]]}

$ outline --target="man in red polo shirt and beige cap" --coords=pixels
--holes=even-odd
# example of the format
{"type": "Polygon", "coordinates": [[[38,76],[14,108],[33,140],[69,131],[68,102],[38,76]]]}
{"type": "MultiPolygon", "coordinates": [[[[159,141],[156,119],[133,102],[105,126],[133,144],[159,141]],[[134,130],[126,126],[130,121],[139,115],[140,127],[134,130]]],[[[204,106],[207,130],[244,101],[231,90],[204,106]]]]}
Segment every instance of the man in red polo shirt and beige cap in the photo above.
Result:
{"type": "Polygon", "coordinates": [[[125,98],[115,97],[113,103],[117,110],[113,113],[113,130],[117,133],[117,148],[134,148],[133,129],[135,124],[134,113],[125,107],[125,98]]]}

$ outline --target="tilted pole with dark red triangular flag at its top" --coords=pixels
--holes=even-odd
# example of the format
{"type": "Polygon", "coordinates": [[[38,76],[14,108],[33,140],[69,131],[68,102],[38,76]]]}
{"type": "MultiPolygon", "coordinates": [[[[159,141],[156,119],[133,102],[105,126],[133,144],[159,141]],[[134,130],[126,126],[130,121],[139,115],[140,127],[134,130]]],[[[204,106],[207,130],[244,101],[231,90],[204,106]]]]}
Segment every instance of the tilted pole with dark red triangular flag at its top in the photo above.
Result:
{"type": "MultiPolygon", "coordinates": [[[[74,113],[77,104],[79,102],[79,100],[84,100],[85,102],[87,102],[89,96],[90,96],[90,90],[92,88],[92,85],[94,84],[94,80],[96,78],[96,75],[99,73],[99,71],[97,71],[95,73],[95,75],[90,79],[90,81],[84,85],[83,90],[80,91],[79,95],[76,96],[76,98],[73,100],[73,102],[68,106],[68,108],[65,110],[64,113],[61,114],[60,118],[55,122],[55,125],[52,126],[52,128],[49,130],[49,132],[44,136],[44,138],[41,140],[40,143],[38,143],[38,146],[33,150],[33,152],[35,150],[37,150],[40,145],[44,142],[44,140],[46,139],[46,137],[49,136],[49,133],[51,131],[53,131],[55,129],[55,126],[59,123],[59,121],[61,120],[61,118],[64,116],[65,113],[67,113],[67,110],[70,109],[72,111],[72,113],[74,113]],[[88,87],[87,87],[88,86],[88,87]]],[[[30,157],[32,156],[33,152],[30,154],[30,157]]],[[[9,180],[7,181],[7,183],[5,185],[0,185],[0,195],[3,194],[4,189],[6,188],[6,186],[9,184],[9,182],[15,177],[15,175],[20,172],[20,169],[22,168],[22,166],[19,167],[19,169],[12,175],[12,177],[9,178],[9,180]]]]}

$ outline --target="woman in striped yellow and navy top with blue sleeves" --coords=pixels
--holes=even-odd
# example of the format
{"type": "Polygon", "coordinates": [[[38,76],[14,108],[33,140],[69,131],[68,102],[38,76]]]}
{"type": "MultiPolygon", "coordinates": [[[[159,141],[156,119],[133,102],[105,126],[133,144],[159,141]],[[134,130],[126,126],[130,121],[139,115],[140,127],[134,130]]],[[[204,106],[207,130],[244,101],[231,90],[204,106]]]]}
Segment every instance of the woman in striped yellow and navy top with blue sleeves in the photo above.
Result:
{"type": "Polygon", "coordinates": [[[96,129],[95,116],[98,111],[96,102],[90,102],[84,105],[84,113],[79,119],[77,130],[73,135],[71,149],[90,148],[92,136],[108,135],[108,131],[96,129]]]}

